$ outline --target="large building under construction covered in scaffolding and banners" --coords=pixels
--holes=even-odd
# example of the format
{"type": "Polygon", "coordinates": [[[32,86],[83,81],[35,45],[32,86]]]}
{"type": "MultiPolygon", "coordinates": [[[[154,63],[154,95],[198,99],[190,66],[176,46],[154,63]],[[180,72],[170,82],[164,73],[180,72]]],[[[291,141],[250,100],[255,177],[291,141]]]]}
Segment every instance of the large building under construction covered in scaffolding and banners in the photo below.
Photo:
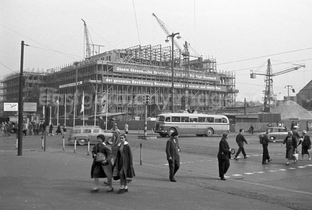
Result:
{"type": "MultiPolygon", "coordinates": [[[[107,110],[110,116],[118,115],[115,118],[119,120],[143,119],[146,95],[150,96],[148,117],[171,112],[172,103],[175,112],[189,109],[207,113],[234,106],[238,90],[231,71],[218,71],[212,58],[189,60],[180,49],[174,50],[173,55],[172,58],[170,46],[137,45],[93,55],[66,67],[25,71],[24,98],[30,98],[31,88],[39,88],[41,94],[50,88],[50,101],[60,97],[59,116],[64,117],[66,112],[66,118],[74,114],[82,116],[83,93],[85,116],[94,116],[95,109],[97,116],[105,116],[107,110]],[[171,99],[172,59],[174,101],[171,99]],[[71,100],[75,92],[76,103],[71,100]]],[[[17,102],[19,73],[8,75],[0,82],[2,102],[17,102]]],[[[52,116],[56,117],[55,108],[52,116]]]]}

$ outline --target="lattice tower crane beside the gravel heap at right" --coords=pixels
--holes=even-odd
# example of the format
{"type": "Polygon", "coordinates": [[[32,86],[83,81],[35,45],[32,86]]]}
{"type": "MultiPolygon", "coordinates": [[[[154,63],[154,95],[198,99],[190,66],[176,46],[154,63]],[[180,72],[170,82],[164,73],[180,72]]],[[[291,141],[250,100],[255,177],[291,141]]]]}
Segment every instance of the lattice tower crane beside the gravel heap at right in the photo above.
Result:
{"type": "Polygon", "coordinates": [[[279,72],[276,72],[273,74],[272,66],[271,66],[271,60],[268,59],[268,65],[266,67],[266,74],[253,73],[253,71],[251,70],[251,73],[250,73],[251,79],[256,78],[256,74],[265,76],[264,81],[265,81],[266,89],[263,91],[263,93],[264,93],[263,111],[264,112],[270,113],[271,107],[275,108],[275,101],[277,100],[276,94],[273,93],[273,79],[272,79],[272,77],[280,75],[280,74],[285,74],[285,73],[290,72],[290,71],[298,70],[301,67],[305,68],[305,65],[300,65],[300,64],[296,64],[296,65],[298,65],[298,66],[290,68],[290,69],[285,69],[285,70],[282,70],[282,71],[279,71],[279,72]]]}

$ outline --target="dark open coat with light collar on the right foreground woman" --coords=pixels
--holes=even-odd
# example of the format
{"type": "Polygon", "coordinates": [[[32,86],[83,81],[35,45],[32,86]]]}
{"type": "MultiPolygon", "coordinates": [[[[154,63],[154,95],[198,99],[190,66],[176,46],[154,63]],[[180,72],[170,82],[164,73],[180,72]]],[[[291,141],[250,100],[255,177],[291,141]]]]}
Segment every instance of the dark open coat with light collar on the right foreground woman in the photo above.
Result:
{"type": "Polygon", "coordinates": [[[132,151],[130,145],[127,141],[124,142],[124,156],[121,157],[119,148],[121,146],[121,142],[118,144],[118,153],[113,166],[113,176],[114,180],[119,179],[120,169],[124,169],[124,174],[126,178],[133,178],[135,176],[133,162],[132,162],[132,151]],[[122,160],[122,162],[121,162],[122,160]]]}

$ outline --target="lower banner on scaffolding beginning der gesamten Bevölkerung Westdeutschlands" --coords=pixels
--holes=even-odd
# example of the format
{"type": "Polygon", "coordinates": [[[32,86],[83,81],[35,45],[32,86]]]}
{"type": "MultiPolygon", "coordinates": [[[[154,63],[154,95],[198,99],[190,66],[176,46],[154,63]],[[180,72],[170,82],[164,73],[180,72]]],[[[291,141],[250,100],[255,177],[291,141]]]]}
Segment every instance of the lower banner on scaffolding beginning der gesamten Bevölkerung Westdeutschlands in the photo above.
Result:
{"type": "MultiPolygon", "coordinates": [[[[155,86],[155,87],[171,87],[171,82],[159,82],[151,80],[140,80],[140,79],[124,79],[115,77],[103,77],[103,84],[124,84],[124,85],[138,85],[138,86],[155,86]]],[[[174,88],[184,88],[183,83],[174,83],[174,88]]],[[[190,89],[200,90],[213,90],[213,91],[226,91],[224,86],[210,86],[202,84],[189,84],[190,89]]]]}

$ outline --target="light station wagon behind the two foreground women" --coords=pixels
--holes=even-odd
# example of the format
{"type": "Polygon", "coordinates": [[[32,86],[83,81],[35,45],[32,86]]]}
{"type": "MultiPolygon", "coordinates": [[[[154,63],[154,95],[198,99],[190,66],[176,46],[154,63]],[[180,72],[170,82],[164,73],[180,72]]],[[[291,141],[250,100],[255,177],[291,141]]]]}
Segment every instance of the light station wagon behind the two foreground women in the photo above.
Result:
{"type": "Polygon", "coordinates": [[[67,141],[75,142],[76,141],[79,145],[85,145],[88,143],[88,140],[92,144],[98,143],[96,136],[103,134],[105,136],[105,143],[106,144],[113,144],[112,136],[113,133],[105,132],[99,126],[75,126],[68,136],[67,141]]]}

